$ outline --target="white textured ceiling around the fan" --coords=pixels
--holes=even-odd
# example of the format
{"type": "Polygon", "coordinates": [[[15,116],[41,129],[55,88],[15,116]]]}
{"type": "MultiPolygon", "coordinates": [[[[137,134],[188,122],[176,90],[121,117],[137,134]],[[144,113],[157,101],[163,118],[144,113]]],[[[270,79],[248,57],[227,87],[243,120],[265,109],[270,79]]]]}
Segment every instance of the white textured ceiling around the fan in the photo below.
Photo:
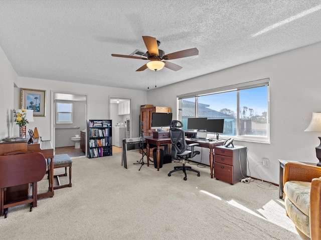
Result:
{"type": "Polygon", "coordinates": [[[19,76],[147,90],[321,41],[320,8],[320,0],[0,0],[0,46],[19,76]],[[146,51],[142,35],[165,53],[199,55],[157,72],[111,56],[146,51]]]}

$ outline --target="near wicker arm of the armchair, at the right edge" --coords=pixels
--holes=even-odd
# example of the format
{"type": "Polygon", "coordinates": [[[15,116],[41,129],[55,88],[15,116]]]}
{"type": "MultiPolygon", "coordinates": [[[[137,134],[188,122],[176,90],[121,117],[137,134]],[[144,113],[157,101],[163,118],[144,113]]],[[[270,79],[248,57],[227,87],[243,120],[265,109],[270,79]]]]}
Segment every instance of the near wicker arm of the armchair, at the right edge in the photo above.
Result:
{"type": "Polygon", "coordinates": [[[321,179],[313,178],[310,191],[311,239],[321,239],[321,179]]]}

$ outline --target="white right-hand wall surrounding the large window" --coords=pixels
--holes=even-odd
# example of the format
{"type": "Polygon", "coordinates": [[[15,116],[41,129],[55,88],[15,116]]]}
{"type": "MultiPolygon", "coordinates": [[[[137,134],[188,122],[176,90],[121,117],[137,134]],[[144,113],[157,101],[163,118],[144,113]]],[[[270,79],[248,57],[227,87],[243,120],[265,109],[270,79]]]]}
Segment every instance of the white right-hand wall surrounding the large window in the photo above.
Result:
{"type": "MultiPolygon", "coordinates": [[[[203,54],[200,52],[200,54],[203,54]]],[[[321,42],[203,75],[147,92],[147,104],[170,106],[177,114],[177,95],[270,78],[270,144],[236,141],[248,147],[253,177],[278,183],[278,159],[317,162],[321,133],[304,132],[313,111],[321,111],[321,42]],[[263,157],[269,168],[257,165],[263,157]],[[256,172],[254,171],[254,168],[256,172]]],[[[184,67],[183,69],[184,70],[184,67]]],[[[175,72],[173,72],[175,77],[175,72]]]]}

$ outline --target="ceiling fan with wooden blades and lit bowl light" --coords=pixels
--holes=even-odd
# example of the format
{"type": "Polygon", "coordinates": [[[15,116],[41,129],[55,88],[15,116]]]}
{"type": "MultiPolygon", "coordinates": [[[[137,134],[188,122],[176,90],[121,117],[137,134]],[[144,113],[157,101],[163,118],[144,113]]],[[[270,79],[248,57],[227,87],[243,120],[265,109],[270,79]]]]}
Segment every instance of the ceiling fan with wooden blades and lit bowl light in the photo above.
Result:
{"type": "Polygon", "coordinates": [[[155,37],[152,36],[142,36],[142,39],[144,40],[144,43],[147,48],[146,56],[147,57],[141,57],[141,56],[131,56],[131,55],[121,55],[121,54],[111,54],[112,56],[118,56],[118,57],[127,57],[127,58],[135,58],[135,59],[142,59],[142,60],[149,60],[145,65],[139,67],[136,71],[143,71],[147,67],[150,70],[161,70],[164,66],[174,70],[178,71],[182,69],[182,66],[179,66],[173,62],[165,61],[165,60],[172,60],[187,56],[194,56],[199,54],[199,50],[194,47],[190,49],[185,49],[181,51],[172,52],[169,54],[165,54],[165,52],[161,49],[158,49],[159,44],[161,44],[160,41],[156,40],[155,37]]]}

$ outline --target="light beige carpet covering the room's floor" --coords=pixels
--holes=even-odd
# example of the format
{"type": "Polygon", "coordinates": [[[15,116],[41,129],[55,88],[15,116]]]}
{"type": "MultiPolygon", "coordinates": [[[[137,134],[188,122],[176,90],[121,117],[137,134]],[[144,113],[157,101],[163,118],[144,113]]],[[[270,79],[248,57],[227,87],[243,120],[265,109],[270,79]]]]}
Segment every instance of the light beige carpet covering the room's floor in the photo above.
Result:
{"type": "MultiPolygon", "coordinates": [[[[180,163],[159,171],[144,164],[138,171],[132,163],[140,158],[128,151],[128,169],[120,165],[121,153],[73,158],[72,187],[40,199],[32,212],[27,205],[10,208],[8,218],[0,218],[0,238],[304,239],[277,189],[212,179],[209,166],[192,165],[201,176],[188,172],[187,181],[183,172],[168,176],[180,163]]],[[[47,184],[44,178],[38,190],[47,184]]]]}

